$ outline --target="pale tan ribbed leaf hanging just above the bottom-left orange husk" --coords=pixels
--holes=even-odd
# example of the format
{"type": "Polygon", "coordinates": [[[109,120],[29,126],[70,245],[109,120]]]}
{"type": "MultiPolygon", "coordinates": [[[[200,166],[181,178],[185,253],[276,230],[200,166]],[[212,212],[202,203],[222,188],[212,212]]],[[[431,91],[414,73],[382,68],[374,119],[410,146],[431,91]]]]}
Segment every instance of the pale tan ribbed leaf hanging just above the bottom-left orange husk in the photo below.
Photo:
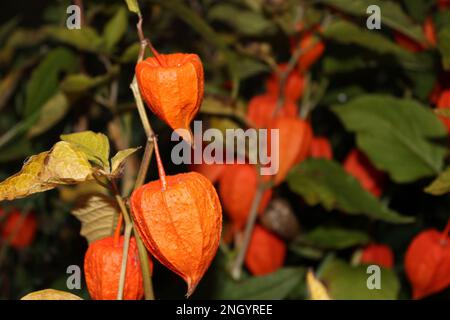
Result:
{"type": "Polygon", "coordinates": [[[119,210],[116,203],[103,194],[86,196],[72,214],[81,221],[80,234],[89,243],[112,235],[119,210]]]}

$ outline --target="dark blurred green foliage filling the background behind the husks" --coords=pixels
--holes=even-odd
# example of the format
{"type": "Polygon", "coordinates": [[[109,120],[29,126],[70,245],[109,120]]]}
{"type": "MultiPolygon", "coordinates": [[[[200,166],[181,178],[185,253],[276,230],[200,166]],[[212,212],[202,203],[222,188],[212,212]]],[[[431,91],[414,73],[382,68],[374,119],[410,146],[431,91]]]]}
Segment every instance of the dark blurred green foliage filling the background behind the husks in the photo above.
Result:
{"type": "MultiPolygon", "coordinates": [[[[71,1],[0,4],[2,180],[62,133],[103,132],[117,150],[144,145],[129,89],[139,49],[136,16],[120,0],[75,3],[83,4],[80,30],[66,28],[71,1]]],[[[246,274],[236,283],[226,271],[233,252],[222,248],[192,298],[306,298],[308,267],[319,269],[336,298],[410,298],[405,250],[419,231],[442,230],[449,217],[449,197],[423,189],[448,162],[447,131],[431,112],[430,96],[437,83],[450,84],[450,10],[431,0],[145,0],[140,6],[145,34],[161,53],[195,52],[202,58],[206,87],[198,118],[218,128],[244,125],[247,102],[264,92],[278,63],[289,61],[291,44],[304,30],[320,25],[316,36],[326,45],[308,70],[311,92],[299,105],[314,105],[314,133],[331,141],[335,161],[309,160],[276,190],[301,225],[285,267],[263,277],[246,274]],[[381,30],[366,28],[370,4],[381,7],[381,30]],[[430,16],[437,46],[414,51],[395,41],[395,33],[402,33],[424,43],[422,25],[430,16]],[[356,180],[348,182],[338,165],[355,146],[385,172],[379,199],[356,180]],[[389,245],[395,257],[376,292],[365,287],[365,269],[351,264],[355,251],[372,241],[389,245]]],[[[186,171],[168,161],[171,131],[156,117],[151,121],[168,173],[186,171]]],[[[123,185],[132,183],[137,164],[137,157],[129,161],[123,185]]],[[[156,178],[156,170],[150,175],[156,178]]],[[[2,243],[0,298],[17,299],[46,287],[67,290],[66,268],[82,266],[87,248],[70,211],[92,190],[97,189],[64,187],[1,203],[5,211],[35,212],[38,231],[27,248],[2,243]]],[[[182,281],[160,265],[154,287],[159,299],[184,294],[182,281]]],[[[85,288],[83,283],[72,292],[87,298],[85,288]]],[[[449,297],[449,289],[433,296],[449,297]]]]}

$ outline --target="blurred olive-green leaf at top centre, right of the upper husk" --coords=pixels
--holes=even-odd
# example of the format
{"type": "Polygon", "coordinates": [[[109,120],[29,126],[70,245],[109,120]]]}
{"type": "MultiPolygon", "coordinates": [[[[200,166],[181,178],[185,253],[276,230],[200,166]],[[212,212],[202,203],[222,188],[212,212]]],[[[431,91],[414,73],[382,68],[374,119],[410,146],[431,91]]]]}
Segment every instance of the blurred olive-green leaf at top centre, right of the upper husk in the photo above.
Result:
{"type": "Polygon", "coordinates": [[[262,36],[275,32],[275,25],[261,13],[230,3],[219,3],[208,12],[208,19],[220,21],[245,36],[262,36]]]}

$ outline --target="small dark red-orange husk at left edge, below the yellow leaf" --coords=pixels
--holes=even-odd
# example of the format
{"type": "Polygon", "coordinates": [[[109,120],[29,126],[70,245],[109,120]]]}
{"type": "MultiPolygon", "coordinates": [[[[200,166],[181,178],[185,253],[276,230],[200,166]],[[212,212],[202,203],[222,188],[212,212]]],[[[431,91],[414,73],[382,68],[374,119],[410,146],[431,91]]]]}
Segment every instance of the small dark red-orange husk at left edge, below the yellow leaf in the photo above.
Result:
{"type": "MultiPolygon", "coordinates": [[[[0,217],[5,213],[0,209],[0,217]]],[[[25,218],[22,213],[14,209],[8,214],[0,226],[0,232],[4,241],[9,241],[9,245],[15,249],[28,247],[34,240],[37,229],[36,215],[29,212],[25,218]],[[14,234],[14,236],[12,236],[14,234]],[[10,237],[12,238],[10,239],[10,237]]]]}

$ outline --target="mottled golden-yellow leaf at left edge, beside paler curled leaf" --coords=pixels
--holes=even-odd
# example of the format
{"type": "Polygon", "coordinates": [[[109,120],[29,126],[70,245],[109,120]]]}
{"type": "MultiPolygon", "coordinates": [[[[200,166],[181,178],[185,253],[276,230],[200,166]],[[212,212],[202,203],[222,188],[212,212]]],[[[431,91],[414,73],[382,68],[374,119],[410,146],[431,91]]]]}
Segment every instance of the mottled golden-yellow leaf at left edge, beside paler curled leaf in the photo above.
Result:
{"type": "Polygon", "coordinates": [[[44,170],[49,152],[32,156],[19,173],[0,183],[0,201],[23,198],[36,192],[52,189],[51,184],[43,183],[40,174],[44,170]]]}

